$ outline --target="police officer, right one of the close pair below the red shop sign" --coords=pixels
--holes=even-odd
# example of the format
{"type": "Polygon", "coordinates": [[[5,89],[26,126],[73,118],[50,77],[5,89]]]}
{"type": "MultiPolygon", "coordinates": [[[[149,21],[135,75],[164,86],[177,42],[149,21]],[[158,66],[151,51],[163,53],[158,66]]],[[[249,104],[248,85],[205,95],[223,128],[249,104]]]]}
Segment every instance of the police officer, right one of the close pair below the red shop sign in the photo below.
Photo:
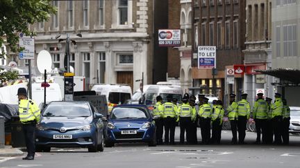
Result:
{"type": "Polygon", "coordinates": [[[244,138],[246,137],[247,120],[250,117],[250,104],[247,101],[247,93],[242,94],[242,100],[238,102],[238,133],[239,144],[245,144],[244,138]]]}

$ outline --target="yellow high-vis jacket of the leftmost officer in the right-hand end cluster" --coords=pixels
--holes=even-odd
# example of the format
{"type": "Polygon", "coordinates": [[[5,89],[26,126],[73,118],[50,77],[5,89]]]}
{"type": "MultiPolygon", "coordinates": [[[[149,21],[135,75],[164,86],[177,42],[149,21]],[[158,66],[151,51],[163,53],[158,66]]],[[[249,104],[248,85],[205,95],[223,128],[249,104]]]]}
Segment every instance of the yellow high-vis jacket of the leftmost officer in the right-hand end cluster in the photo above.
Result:
{"type": "Polygon", "coordinates": [[[253,119],[267,119],[267,102],[258,99],[253,105],[253,119]]]}

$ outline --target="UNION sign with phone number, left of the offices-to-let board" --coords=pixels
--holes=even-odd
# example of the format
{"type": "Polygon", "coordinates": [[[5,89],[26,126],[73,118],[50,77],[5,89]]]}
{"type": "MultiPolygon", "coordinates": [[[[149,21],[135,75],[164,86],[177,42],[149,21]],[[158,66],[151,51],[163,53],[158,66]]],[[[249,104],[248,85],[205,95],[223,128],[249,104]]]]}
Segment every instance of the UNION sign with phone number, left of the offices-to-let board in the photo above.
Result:
{"type": "Polygon", "coordinates": [[[158,30],[158,46],[181,46],[181,30],[158,30]]]}

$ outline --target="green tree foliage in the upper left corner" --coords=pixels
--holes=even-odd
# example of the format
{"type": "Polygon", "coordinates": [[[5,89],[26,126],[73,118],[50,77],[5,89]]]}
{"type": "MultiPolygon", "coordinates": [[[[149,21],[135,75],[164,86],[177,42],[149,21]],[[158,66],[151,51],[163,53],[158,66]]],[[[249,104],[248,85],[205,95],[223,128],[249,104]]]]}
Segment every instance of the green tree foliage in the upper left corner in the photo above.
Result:
{"type": "MultiPolygon", "coordinates": [[[[51,6],[52,0],[0,0],[0,46],[7,44],[10,51],[17,53],[19,32],[24,35],[35,35],[28,25],[47,21],[56,8],[51,6]]],[[[0,53],[3,58],[5,53],[0,53]]],[[[0,73],[0,82],[14,80],[16,73],[0,73]]]]}

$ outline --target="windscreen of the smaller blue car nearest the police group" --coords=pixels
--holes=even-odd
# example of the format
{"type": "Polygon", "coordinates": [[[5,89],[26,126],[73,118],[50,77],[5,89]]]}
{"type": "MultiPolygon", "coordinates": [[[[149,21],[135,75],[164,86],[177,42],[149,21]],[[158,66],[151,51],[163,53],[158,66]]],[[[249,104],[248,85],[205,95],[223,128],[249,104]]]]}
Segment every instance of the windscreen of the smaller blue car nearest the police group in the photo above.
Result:
{"type": "Polygon", "coordinates": [[[120,107],[113,109],[111,119],[134,119],[148,118],[147,111],[144,108],[120,107]]]}

